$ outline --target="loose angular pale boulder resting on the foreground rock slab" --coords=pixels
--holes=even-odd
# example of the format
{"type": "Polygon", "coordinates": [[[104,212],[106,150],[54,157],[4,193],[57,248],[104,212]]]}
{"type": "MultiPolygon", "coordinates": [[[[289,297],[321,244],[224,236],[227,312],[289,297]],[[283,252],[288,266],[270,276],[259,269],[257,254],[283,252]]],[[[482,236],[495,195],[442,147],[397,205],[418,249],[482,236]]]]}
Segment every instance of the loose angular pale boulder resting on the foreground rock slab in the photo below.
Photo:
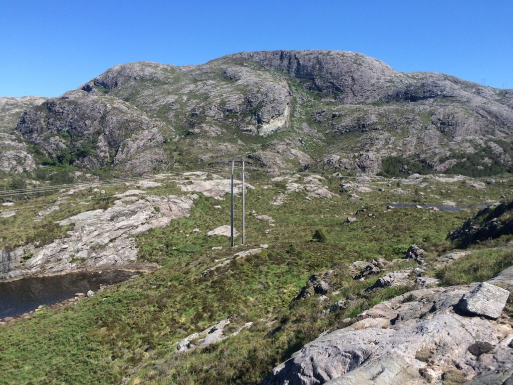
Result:
{"type": "Polygon", "coordinates": [[[458,308],[468,313],[497,319],[501,316],[508,297],[507,290],[483,282],[463,296],[458,303],[458,308]]]}

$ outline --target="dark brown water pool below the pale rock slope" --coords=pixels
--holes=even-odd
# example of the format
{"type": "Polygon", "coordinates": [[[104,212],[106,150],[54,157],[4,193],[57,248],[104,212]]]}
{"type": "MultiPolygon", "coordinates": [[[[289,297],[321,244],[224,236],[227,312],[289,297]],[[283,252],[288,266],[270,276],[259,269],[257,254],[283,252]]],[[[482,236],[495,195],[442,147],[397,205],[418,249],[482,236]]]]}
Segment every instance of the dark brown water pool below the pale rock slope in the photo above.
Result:
{"type": "Polygon", "coordinates": [[[124,271],[80,272],[0,282],[0,319],[30,312],[39,305],[72,298],[75,293],[96,292],[101,284],[123,282],[134,274],[124,271]]]}

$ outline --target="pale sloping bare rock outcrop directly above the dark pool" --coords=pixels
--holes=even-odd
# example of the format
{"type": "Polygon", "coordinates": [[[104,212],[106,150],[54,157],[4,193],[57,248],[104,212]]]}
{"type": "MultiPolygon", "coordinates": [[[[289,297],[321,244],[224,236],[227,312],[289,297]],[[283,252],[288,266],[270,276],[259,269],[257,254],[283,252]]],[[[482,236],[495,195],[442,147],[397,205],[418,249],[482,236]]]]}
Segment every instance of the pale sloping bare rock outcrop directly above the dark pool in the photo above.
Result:
{"type": "Polygon", "coordinates": [[[57,274],[91,266],[135,261],[135,234],[167,226],[189,215],[197,196],[127,196],[103,210],[85,211],[58,222],[68,236],[38,247],[27,245],[0,251],[0,279],[57,274]]]}

